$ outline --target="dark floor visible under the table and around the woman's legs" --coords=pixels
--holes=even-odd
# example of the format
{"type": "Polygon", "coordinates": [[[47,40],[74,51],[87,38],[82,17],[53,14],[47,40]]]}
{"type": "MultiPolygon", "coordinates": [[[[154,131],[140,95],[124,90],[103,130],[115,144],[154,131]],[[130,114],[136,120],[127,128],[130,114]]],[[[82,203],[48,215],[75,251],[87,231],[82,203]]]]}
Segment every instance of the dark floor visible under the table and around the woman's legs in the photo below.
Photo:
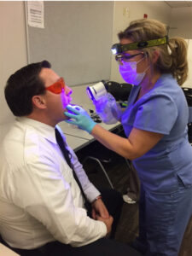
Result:
{"type": "MultiPolygon", "coordinates": [[[[126,193],[129,180],[129,169],[125,159],[112,151],[106,150],[100,143],[91,143],[86,148],[79,150],[76,154],[82,162],[87,155],[92,155],[102,160],[102,165],[108,172],[108,176],[113,183],[114,189],[117,189],[122,195],[126,193]]],[[[97,188],[110,188],[108,180],[104,176],[101,168],[94,160],[87,160],[84,163],[84,170],[90,177],[90,181],[97,188]]],[[[121,218],[115,239],[125,243],[134,241],[138,234],[138,204],[127,204],[123,206],[121,218]]],[[[178,256],[192,256],[192,218],[185,232],[182,247],[178,256]]]]}

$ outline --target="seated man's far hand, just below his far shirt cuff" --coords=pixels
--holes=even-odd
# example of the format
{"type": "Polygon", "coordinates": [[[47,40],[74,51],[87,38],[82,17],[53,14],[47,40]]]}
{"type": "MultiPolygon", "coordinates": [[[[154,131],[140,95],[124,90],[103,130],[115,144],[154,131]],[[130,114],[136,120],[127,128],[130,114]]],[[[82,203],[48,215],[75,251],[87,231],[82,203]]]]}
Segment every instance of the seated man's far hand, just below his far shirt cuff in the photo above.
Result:
{"type": "Polygon", "coordinates": [[[97,199],[92,203],[92,218],[96,219],[96,215],[102,218],[109,218],[109,213],[102,199],[97,199]]]}

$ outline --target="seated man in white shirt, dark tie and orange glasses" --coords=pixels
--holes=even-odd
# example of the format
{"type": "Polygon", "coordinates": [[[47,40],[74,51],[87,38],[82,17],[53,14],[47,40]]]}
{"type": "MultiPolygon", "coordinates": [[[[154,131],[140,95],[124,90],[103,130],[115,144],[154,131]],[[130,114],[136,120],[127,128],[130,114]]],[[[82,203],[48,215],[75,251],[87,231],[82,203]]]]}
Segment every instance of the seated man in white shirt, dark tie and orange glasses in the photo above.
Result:
{"type": "Polygon", "coordinates": [[[113,236],[122,199],[113,190],[101,196],[56,126],[67,119],[71,93],[48,61],[21,68],[6,84],[17,118],[0,149],[3,242],[25,256],[139,255],[104,237],[113,236]]]}

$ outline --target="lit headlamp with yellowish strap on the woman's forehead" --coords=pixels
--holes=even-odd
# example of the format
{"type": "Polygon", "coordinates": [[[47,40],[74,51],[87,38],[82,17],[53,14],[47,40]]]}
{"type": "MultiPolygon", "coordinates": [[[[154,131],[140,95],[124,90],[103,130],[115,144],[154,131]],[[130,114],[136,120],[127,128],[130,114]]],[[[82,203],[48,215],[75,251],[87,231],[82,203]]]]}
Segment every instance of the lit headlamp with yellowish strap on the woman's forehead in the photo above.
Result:
{"type": "Polygon", "coordinates": [[[167,44],[167,43],[168,43],[168,37],[166,36],[164,38],[158,38],[158,39],[153,39],[153,40],[148,40],[143,42],[136,42],[131,44],[113,44],[111,50],[113,55],[119,55],[127,50],[143,49],[146,47],[159,46],[161,44],[167,44]]]}

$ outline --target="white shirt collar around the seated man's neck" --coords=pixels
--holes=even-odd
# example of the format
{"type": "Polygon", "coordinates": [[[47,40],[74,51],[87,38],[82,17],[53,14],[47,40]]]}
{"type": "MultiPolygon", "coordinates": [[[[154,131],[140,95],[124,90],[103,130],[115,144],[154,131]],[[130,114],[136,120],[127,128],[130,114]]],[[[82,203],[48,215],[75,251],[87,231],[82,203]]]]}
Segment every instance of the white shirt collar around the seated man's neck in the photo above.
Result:
{"type": "Polygon", "coordinates": [[[42,122],[39,122],[34,119],[29,119],[26,117],[17,117],[16,121],[19,121],[20,123],[23,123],[27,126],[33,127],[35,130],[40,133],[40,135],[46,139],[48,139],[51,143],[56,143],[55,139],[55,127],[52,127],[50,125],[46,125],[42,122]]]}

